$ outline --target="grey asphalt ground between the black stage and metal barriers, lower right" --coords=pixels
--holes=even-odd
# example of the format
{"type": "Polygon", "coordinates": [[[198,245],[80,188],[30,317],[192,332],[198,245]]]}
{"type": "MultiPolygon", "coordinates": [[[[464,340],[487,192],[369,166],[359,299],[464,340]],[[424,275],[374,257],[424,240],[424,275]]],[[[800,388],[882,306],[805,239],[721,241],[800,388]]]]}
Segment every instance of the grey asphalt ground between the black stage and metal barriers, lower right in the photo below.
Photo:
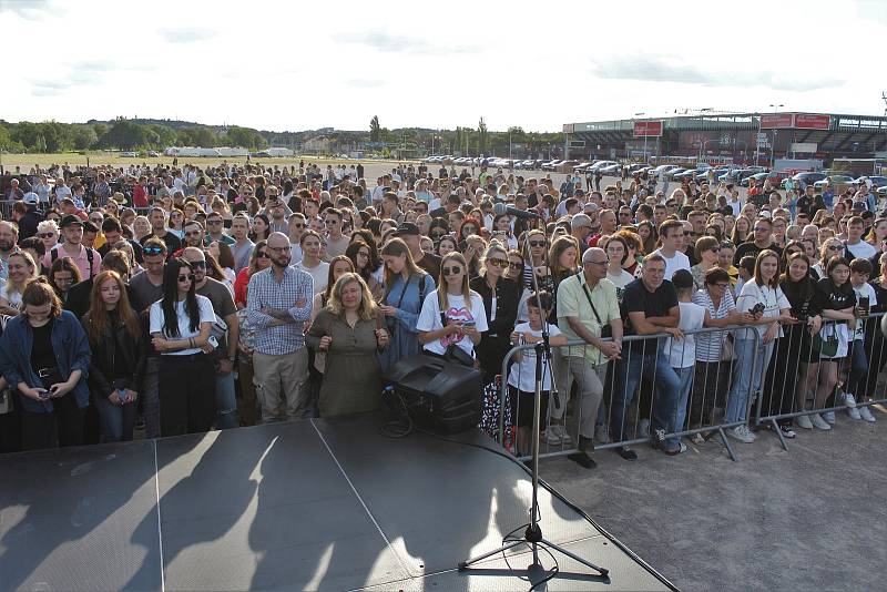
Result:
{"type": "Polygon", "coordinates": [[[681,590],[884,590],[887,412],[874,415],[798,430],[787,452],[766,430],[731,440],[737,462],[716,438],[680,457],[636,447],[636,462],[602,450],[593,470],[548,459],[540,473],[681,590]]]}

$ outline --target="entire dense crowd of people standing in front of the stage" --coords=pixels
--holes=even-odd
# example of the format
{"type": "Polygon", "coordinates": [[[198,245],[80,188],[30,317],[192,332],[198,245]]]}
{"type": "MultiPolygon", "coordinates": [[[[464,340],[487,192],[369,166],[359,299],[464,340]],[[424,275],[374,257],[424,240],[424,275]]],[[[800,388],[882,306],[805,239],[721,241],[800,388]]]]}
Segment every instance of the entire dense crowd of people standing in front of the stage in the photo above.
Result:
{"type": "Polygon", "coordinates": [[[422,351],[479,368],[489,396],[506,382],[526,453],[536,353],[502,363],[543,329],[543,440],[583,467],[595,441],[679,455],[682,432],[728,423],[752,442],[755,397],[787,438],[830,429],[823,409],[875,421],[887,217],[865,185],[741,200],[424,164],[6,176],[2,451],[374,411],[422,351]]]}

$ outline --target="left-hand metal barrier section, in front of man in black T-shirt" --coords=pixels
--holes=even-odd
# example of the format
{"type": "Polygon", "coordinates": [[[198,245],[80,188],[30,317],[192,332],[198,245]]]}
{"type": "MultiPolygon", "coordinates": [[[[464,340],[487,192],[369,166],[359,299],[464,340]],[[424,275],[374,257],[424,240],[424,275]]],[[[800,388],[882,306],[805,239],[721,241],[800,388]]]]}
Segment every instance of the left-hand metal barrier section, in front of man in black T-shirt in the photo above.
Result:
{"type": "MultiPolygon", "coordinates": [[[[530,455],[532,398],[519,391],[532,390],[536,370],[534,361],[512,363],[521,356],[534,360],[534,347],[516,346],[502,360],[497,440],[512,442],[512,451],[521,459],[530,455]],[[509,381],[518,382],[519,388],[510,387],[509,381]]],[[[705,439],[720,436],[735,460],[726,430],[748,425],[759,385],[744,377],[762,376],[762,349],[761,336],[752,327],[702,328],[687,331],[681,340],[667,334],[625,336],[620,359],[601,364],[595,364],[597,348],[585,341],[552,347],[551,374],[558,396],[552,394],[542,401],[540,456],[633,446],[654,437],[657,441],[664,438],[674,451],[681,437],[700,435],[705,439]],[[695,344],[693,348],[687,338],[695,344]],[[712,361],[696,360],[693,349],[699,353],[700,347],[703,359],[712,361]],[[732,354],[736,350],[741,353],[732,354]],[[734,380],[737,371],[741,379],[734,380]]]]}

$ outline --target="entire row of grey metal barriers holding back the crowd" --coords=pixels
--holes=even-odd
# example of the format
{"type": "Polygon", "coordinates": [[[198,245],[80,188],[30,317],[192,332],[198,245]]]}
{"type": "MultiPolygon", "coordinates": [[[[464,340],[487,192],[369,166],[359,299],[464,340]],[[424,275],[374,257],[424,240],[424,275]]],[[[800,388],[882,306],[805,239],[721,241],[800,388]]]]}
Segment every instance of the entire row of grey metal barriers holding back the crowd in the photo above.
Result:
{"type": "MultiPolygon", "coordinates": [[[[887,381],[878,382],[878,375],[887,364],[887,339],[880,331],[880,320],[885,314],[887,313],[875,313],[859,318],[858,323],[863,324],[863,328],[858,335],[864,338],[854,339],[855,331],[848,329],[849,338],[845,341],[847,348],[839,349],[838,354],[843,355],[834,358],[826,357],[820,349],[813,347],[813,336],[809,339],[803,338],[799,331],[806,329],[799,325],[794,329],[792,326],[783,326],[784,337],[774,339],[769,346],[762,343],[759,334],[752,326],[710,327],[687,331],[685,335],[692,336],[696,343],[696,355],[693,359],[683,355],[687,344],[685,339],[672,340],[666,334],[625,336],[622,359],[605,361],[598,367],[585,360],[584,348],[591,346],[582,340],[554,347],[552,374],[561,407],[558,408],[553,396],[549,397],[547,406],[543,401],[541,412],[544,416],[540,423],[544,431],[541,436],[540,456],[544,458],[578,452],[580,436],[583,433],[585,442],[582,443],[585,447],[593,446],[594,450],[650,442],[652,428],[648,426],[654,417],[656,405],[669,406],[666,439],[697,433],[708,439],[717,435],[730,458],[736,460],[726,430],[752,423],[756,428],[772,428],[787,450],[779,423],[802,416],[848,410],[849,407],[839,398],[845,389],[854,395],[856,409],[887,404],[887,381]],[[742,337],[743,333],[747,339],[737,339],[736,336],[742,337]],[[701,343],[706,344],[705,339],[708,345],[702,348],[704,351],[701,355],[701,343]],[[666,381],[663,376],[657,376],[657,372],[667,371],[662,366],[663,361],[655,364],[650,355],[642,356],[631,347],[631,344],[642,340],[655,340],[656,356],[663,356],[664,359],[676,363],[677,367],[683,367],[674,372],[679,384],[677,399],[660,391],[661,384],[666,381]],[[731,345],[724,346],[726,343],[731,345]],[[726,354],[724,347],[727,347],[726,354]],[[743,347],[746,354],[741,361],[736,354],[743,347]],[[731,355],[730,350],[734,354],[731,355]],[[571,366],[571,357],[579,357],[581,364],[573,363],[571,366]],[[715,357],[716,361],[704,361],[715,357]],[[752,378],[755,375],[759,377],[756,388],[752,378]],[[687,386],[691,380],[692,385],[687,386]],[[583,390],[588,386],[583,381],[590,381],[591,388],[583,390]],[[747,382],[745,387],[743,381],[747,382]],[[829,388],[832,381],[836,384],[829,388]],[[635,382],[638,388],[628,391],[630,382],[635,382]],[[575,391],[571,392],[573,384],[575,391]],[[682,391],[685,400],[680,397],[682,391]],[[590,414],[584,407],[588,399],[597,399],[593,392],[601,394],[597,414],[590,414]],[[734,400],[731,402],[731,399],[734,400]],[[733,418],[728,416],[731,405],[734,406],[733,418]],[[738,406],[738,412],[735,406],[738,406]],[[595,417],[593,429],[582,425],[582,418],[589,417],[595,417]],[[560,422],[561,418],[564,419],[563,423],[560,422]],[[552,431],[552,426],[562,427],[555,427],[552,431]],[[560,431],[565,432],[568,438],[560,438],[560,431]],[[589,438],[593,443],[588,441],[589,438]]],[[[826,321],[819,335],[828,338],[839,325],[839,321],[826,321]]],[[[651,346],[651,343],[646,344],[648,348],[651,346]]],[[[522,443],[519,436],[521,428],[531,429],[529,426],[520,426],[520,419],[522,407],[532,406],[532,398],[520,396],[509,388],[509,372],[518,382],[523,378],[521,372],[530,372],[531,377],[526,386],[534,384],[533,349],[532,344],[513,347],[502,360],[499,426],[495,437],[500,443],[511,442],[514,456],[520,459],[529,458],[531,452],[519,448],[522,443]],[[512,366],[519,354],[529,354],[531,361],[512,366]],[[518,400],[513,400],[514,397],[518,400]],[[506,418],[509,416],[512,426],[507,425],[506,418]]],[[[670,363],[669,366],[673,367],[674,364],[670,363]]],[[[531,412],[531,407],[524,411],[531,412]]]]}

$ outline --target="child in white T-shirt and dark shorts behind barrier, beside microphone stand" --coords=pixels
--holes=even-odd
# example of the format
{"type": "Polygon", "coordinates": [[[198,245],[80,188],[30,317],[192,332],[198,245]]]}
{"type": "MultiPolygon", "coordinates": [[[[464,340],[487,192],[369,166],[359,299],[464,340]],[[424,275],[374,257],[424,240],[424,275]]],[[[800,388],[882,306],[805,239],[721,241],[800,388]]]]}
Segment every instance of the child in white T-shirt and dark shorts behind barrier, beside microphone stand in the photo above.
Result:
{"type": "MultiPolygon", "coordinates": [[[[538,344],[542,340],[542,321],[548,318],[551,309],[551,296],[542,290],[539,297],[534,294],[527,298],[527,314],[529,323],[521,323],[511,334],[513,345],[538,344]]],[[[549,343],[552,346],[567,345],[567,337],[561,335],[557,325],[548,325],[549,343]]],[[[514,356],[514,364],[508,372],[508,388],[511,391],[511,417],[514,421],[514,442],[518,455],[530,453],[530,436],[532,435],[533,398],[536,397],[536,350],[526,349],[514,356]]],[[[548,397],[551,391],[551,368],[542,360],[542,394],[539,409],[541,414],[548,411],[548,397]]],[[[540,417],[539,421],[542,421],[540,417]]]]}

